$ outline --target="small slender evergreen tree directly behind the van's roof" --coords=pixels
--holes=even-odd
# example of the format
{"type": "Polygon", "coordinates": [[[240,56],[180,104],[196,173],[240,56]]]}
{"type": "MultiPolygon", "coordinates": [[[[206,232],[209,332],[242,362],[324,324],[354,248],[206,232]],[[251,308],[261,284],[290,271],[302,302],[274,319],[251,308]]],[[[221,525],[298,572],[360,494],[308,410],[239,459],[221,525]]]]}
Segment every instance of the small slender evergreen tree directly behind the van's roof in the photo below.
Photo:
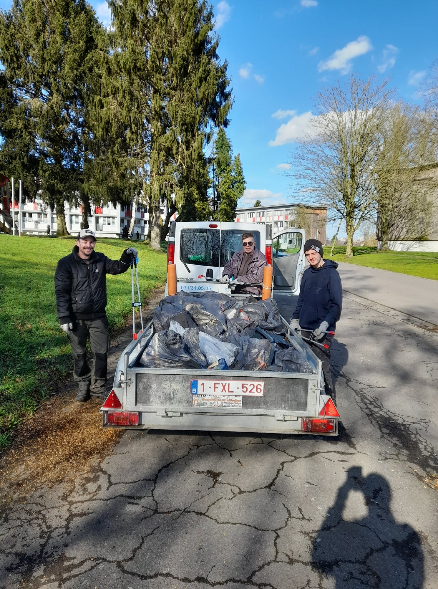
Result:
{"type": "Polygon", "coordinates": [[[219,220],[234,221],[237,201],[245,190],[240,154],[233,161],[230,140],[223,127],[218,130],[215,147],[215,174],[217,177],[217,199],[219,204],[219,220]]]}

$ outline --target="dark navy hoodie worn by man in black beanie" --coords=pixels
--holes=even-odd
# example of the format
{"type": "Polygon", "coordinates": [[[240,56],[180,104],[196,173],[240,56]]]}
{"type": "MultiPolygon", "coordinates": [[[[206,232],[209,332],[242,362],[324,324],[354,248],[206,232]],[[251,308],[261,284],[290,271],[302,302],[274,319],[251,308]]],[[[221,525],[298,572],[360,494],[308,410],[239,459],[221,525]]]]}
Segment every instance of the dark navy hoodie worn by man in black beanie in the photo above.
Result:
{"type": "Polygon", "coordinates": [[[323,321],[334,331],[342,309],[342,284],[338,264],[324,260],[324,266],[304,270],[300,296],[292,319],[300,320],[303,329],[317,329],[323,321]]]}

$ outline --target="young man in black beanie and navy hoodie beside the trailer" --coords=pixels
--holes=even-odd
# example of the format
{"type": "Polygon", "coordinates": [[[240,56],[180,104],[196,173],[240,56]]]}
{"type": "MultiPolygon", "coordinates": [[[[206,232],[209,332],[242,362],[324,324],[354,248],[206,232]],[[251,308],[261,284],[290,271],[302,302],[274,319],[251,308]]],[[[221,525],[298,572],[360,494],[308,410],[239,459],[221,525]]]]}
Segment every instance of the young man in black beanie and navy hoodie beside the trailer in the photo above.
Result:
{"type": "Polygon", "coordinates": [[[323,244],[317,239],[308,239],[304,244],[304,254],[310,268],[304,270],[301,280],[300,296],[298,296],[290,326],[294,330],[303,330],[304,337],[310,337],[323,348],[310,342],[312,351],[323,363],[326,395],[334,400],[333,381],[330,373],[330,350],[333,337],[327,332],[336,329],[342,309],[342,285],[338,264],[332,260],[324,260],[323,244]]]}

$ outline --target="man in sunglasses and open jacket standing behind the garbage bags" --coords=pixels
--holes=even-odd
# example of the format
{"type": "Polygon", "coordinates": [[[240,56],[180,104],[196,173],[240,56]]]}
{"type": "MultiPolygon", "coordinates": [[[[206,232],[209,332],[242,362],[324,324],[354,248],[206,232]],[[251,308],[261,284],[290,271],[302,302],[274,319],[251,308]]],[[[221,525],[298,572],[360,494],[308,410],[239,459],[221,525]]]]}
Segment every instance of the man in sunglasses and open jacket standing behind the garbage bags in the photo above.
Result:
{"type": "Polygon", "coordinates": [[[253,284],[254,286],[236,287],[234,292],[260,296],[264,267],[268,265],[266,257],[255,247],[255,239],[252,233],[243,234],[242,246],[243,250],[236,252],[224,267],[219,282],[225,284],[233,279],[235,282],[253,284]]]}

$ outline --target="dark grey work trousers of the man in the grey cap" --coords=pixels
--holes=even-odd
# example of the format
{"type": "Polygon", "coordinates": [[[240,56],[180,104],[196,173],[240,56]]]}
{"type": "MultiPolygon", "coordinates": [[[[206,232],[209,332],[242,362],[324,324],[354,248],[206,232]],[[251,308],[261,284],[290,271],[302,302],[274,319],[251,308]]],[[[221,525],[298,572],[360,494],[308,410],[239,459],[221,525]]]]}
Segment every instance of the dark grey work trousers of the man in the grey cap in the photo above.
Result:
{"type": "Polygon", "coordinates": [[[107,392],[107,363],[109,350],[108,319],[78,319],[67,333],[74,362],[74,379],[79,391],[90,391],[91,396],[107,392]],[[87,362],[87,339],[93,355],[92,370],[87,362]]]}

